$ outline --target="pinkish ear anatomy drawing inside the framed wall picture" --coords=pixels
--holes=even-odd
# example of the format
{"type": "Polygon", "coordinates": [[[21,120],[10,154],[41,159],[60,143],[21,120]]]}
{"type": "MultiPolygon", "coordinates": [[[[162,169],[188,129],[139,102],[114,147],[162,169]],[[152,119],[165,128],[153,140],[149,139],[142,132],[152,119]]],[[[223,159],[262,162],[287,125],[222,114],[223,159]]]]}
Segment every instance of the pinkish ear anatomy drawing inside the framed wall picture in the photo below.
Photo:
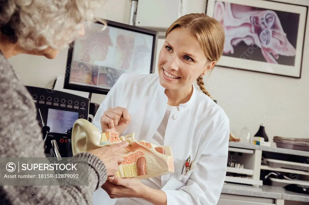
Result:
{"type": "Polygon", "coordinates": [[[259,47],[268,63],[278,64],[280,56],[296,55],[296,48],[273,10],[216,1],[214,18],[224,27],[224,54],[234,54],[234,48],[244,42],[253,49],[259,47]]]}

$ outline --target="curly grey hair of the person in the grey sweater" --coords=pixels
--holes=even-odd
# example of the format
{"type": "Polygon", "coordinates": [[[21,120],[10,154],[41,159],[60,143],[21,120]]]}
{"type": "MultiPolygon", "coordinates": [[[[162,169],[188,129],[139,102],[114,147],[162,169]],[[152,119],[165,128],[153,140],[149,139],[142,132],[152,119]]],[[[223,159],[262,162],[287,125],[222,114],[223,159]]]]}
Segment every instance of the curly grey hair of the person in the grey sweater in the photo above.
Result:
{"type": "Polygon", "coordinates": [[[104,0],[0,0],[0,31],[25,50],[64,49],[99,21],[104,0]],[[86,24],[85,24],[86,22],[86,24]]]}

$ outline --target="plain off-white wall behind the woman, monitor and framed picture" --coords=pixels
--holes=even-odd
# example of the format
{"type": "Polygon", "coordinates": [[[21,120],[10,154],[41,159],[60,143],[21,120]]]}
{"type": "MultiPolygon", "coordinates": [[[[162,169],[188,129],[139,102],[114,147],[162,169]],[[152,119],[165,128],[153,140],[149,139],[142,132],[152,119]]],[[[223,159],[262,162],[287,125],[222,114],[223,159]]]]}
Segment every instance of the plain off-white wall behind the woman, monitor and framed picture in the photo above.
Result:
{"type": "MultiPolygon", "coordinates": [[[[205,11],[205,2],[206,0],[189,0],[187,13],[205,11]]],[[[108,10],[102,12],[102,17],[128,23],[130,5],[127,0],[109,1],[107,7],[108,10]]],[[[309,33],[308,27],[307,33],[309,33]]],[[[308,40],[307,37],[305,39],[304,56],[309,56],[308,40]]],[[[163,42],[164,40],[158,42],[158,53],[163,42]]],[[[54,77],[64,74],[66,52],[66,50],[61,51],[54,60],[20,55],[11,58],[10,62],[25,85],[45,87],[54,77]]],[[[230,118],[231,132],[234,135],[238,135],[245,124],[254,135],[259,129],[259,125],[264,123],[270,139],[273,136],[308,138],[309,82],[306,78],[306,74],[309,77],[308,65],[309,59],[304,58],[303,79],[216,67],[210,76],[206,76],[204,80],[206,88],[210,90],[213,98],[218,101],[218,104],[230,118]],[[299,90],[296,93],[288,94],[289,90],[295,85],[298,85],[299,90]],[[278,110],[274,106],[281,107],[278,110]]],[[[103,99],[103,95],[93,94],[91,101],[100,103],[103,99]]]]}

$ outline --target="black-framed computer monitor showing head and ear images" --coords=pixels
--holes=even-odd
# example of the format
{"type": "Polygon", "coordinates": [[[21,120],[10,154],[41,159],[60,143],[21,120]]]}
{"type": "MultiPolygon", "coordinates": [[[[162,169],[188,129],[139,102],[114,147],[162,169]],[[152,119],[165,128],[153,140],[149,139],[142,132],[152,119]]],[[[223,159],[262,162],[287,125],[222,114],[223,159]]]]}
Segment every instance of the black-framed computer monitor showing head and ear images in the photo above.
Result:
{"type": "Polygon", "coordinates": [[[108,21],[85,28],[68,51],[64,89],[107,94],[120,75],[155,72],[158,33],[108,21]]]}

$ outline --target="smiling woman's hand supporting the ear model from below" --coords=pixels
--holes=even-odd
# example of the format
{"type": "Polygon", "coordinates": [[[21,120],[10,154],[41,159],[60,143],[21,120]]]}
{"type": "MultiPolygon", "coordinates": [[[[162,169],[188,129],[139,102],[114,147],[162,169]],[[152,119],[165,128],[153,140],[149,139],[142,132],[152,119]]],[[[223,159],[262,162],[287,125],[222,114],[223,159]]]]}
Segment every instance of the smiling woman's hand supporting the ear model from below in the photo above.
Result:
{"type": "Polygon", "coordinates": [[[116,198],[142,198],[147,188],[138,178],[120,178],[117,176],[108,177],[108,180],[101,187],[111,199],[116,198]]]}

